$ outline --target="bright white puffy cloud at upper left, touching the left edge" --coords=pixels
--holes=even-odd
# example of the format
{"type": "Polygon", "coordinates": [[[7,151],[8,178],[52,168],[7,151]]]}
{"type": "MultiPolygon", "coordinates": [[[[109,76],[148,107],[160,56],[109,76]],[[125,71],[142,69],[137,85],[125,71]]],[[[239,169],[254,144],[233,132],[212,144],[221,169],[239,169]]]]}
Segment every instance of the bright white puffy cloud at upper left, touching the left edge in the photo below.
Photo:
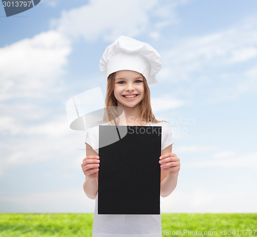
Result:
{"type": "Polygon", "coordinates": [[[68,39],[56,31],[0,48],[0,100],[42,96],[64,73],[70,52],[68,39]]]}

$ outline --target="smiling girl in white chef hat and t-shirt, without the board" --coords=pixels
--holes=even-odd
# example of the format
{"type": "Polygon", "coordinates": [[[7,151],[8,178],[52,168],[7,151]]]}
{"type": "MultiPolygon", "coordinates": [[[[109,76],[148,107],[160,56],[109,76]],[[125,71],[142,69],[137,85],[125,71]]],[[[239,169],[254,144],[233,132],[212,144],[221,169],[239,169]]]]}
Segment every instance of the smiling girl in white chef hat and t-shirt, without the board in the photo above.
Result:
{"type": "MultiPolygon", "coordinates": [[[[150,104],[148,84],[156,83],[155,74],[160,70],[158,52],[150,45],[133,38],[121,36],[109,45],[101,57],[100,70],[107,77],[104,125],[113,125],[111,108],[121,107],[124,116],[115,117],[117,125],[161,126],[160,195],[170,195],[176,187],[180,161],[172,153],[172,134],[164,121],[156,120],[150,104]]],[[[99,126],[90,128],[86,136],[86,157],[81,164],[86,176],[83,188],[90,199],[96,199],[93,237],[111,236],[161,236],[161,215],[154,214],[98,214],[98,156],[99,126]]],[[[144,167],[143,164],[140,164],[144,167]]]]}

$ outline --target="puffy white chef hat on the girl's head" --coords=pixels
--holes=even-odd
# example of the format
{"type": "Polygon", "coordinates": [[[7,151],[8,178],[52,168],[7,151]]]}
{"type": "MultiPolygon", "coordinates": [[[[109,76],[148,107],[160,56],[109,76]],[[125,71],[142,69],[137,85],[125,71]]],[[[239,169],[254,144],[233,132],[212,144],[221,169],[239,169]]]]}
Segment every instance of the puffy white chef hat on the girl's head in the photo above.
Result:
{"type": "Polygon", "coordinates": [[[99,67],[106,77],[120,70],[131,70],[141,73],[148,84],[153,84],[158,82],[155,74],[161,69],[161,57],[151,45],[122,35],[106,47],[99,67]]]}

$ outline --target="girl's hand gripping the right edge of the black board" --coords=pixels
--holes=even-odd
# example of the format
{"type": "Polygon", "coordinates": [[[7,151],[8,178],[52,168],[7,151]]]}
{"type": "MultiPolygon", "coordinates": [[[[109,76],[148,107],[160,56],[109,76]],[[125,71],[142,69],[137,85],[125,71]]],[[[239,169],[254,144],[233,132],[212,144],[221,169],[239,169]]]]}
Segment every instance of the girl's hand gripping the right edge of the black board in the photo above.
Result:
{"type": "Polygon", "coordinates": [[[166,153],[160,156],[161,168],[163,171],[169,171],[170,175],[178,175],[180,170],[180,161],[176,154],[166,153]]]}

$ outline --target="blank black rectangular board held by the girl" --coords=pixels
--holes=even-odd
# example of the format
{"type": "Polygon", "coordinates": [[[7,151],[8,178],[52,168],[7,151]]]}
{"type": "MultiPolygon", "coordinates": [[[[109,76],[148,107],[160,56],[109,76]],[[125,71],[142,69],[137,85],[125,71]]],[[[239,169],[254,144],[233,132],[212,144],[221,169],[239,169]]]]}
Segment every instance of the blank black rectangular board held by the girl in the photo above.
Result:
{"type": "Polygon", "coordinates": [[[160,214],[160,154],[161,127],[99,126],[98,214],[160,214]]]}

